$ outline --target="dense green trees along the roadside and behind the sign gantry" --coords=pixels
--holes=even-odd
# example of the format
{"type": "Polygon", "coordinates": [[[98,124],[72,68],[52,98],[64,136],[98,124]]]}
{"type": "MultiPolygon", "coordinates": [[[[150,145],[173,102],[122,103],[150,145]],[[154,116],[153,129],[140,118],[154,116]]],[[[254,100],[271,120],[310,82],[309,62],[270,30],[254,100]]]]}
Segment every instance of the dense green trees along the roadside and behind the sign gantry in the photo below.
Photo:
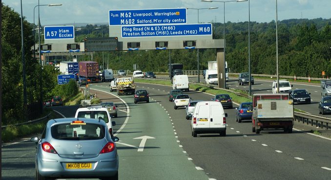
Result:
{"type": "MultiPolygon", "coordinates": [[[[330,21],[283,20],[278,22],[279,74],[322,78],[331,77],[331,27],[330,21]]],[[[23,17],[23,37],[28,104],[48,100],[54,95],[65,94],[65,86],[57,84],[58,70],[52,65],[41,66],[34,58],[33,28],[23,17]],[[40,78],[40,74],[42,78],[40,78]],[[41,87],[41,88],[40,88],[41,87]]],[[[101,25],[81,27],[75,31],[75,41],[85,37],[107,37],[108,28],[101,25]]],[[[276,73],[276,23],[251,22],[250,55],[252,74],[276,73]]],[[[42,38],[42,37],[41,37],[42,38]]],[[[213,39],[223,39],[223,24],[213,23],[213,39]]],[[[43,43],[43,40],[41,40],[43,43]]],[[[21,49],[21,16],[11,7],[1,3],[1,120],[2,125],[25,120],[23,112],[23,79],[21,49]]],[[[184,70],[197,70],[197,49],[171,50],[171,62],[184,64],[184,70]]],[[[64,60],[69,60],[65,57],[64,60]]],[[[89,60],[88,56],[78,57],[89,60]]],[[[168,50],[95,52],[94,61],[105,63],[114,70],[132,70],[138,64],[142,71],[167,72],[168,50]]],[[[216,60],[215,49],[199,50],[200,70],[207,69],[207,62],[216,60]]],[[[248,22],[226,23],[226,60],[231,72],[248,72],[248,22]]],[[[60,60],[57,60],[59,62],[60,60]]],[[[66,95],[64,95],[66,96],[66,95]]],[[[69,95],[67,95],[69,96],[69,95]]],[[[40,102],[42,103],[42,102],[40,102]]]]}

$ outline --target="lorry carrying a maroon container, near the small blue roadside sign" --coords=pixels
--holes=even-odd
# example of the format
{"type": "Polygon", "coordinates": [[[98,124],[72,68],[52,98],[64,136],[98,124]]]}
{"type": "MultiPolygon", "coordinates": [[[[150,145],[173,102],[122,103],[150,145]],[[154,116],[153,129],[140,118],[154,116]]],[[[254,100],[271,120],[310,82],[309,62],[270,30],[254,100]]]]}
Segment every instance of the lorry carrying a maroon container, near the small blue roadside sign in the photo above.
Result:
{"type": "Polygon", "coordinates": [[[79,65],[79,76],[85,77],[88,82],[101,81],[98,62],[81,61],[78,62],[78,65],[79,65]]]}

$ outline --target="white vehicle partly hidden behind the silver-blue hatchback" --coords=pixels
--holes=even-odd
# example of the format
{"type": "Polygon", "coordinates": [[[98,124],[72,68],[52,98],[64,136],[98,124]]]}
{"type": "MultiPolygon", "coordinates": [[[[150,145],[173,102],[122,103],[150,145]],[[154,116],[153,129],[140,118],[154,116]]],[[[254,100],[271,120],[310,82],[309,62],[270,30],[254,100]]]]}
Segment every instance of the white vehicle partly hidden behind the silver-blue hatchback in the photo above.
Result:
{"type": "Polygon", "coordinates": [[[115,121],[111,120],[109,111],[104,105],[86,105],[77,109],[75,118],[91,118],[96,120],[104,120],[107,124],[108,131],[113,137],[113,126],[116,125],[115,121]]]}

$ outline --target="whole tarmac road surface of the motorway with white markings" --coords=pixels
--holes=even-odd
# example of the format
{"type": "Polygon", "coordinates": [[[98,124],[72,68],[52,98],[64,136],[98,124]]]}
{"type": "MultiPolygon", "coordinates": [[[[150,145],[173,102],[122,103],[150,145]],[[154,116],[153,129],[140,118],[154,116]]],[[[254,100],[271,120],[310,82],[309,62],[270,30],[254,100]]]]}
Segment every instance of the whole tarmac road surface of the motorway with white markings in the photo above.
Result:
{"type": "MultiPolygon", "coordinates": [[[[230,79],[227,83],[229,86],[238,85],[237,80],[230,79]]],[[[253,88],[258,85],[263,88],[263,83],[267,82],[255,80],[253,88]]],[[[100,92],[104,93],[105,99],[113,101],[118,108],[118,117],[112,120],[116,122],[116,126],[113,126],[114,136],[120,139],[116,142],[119,154],[119,179],[320,180],[330,178],[331,156],[328,152],[331,141],[307,134],[310,129],[299,131],[297,127],[292,134],[282,131],[263,131],[256,135],[251,132],[250,121],[236,122],[235,108],[239,104],[233,103],[233,108],[224,108],[224,113],[227,114],[226,137],[222,137],[220,133],[211,133],[198,134],[197,138],[193,138],[190,128],[192,119],[187,120],[186,108],[174,109],[174,102],[169,101],[171,86],[135,84],[137,90],[145,89],[148,92],[150,103],[135,104],[134,95],[120,97],[115,92],[111,93],[109,82],[89,85],[91,93],[98,91],[99,98],[100,92]]],[[[265,91],[271,91],[269,84],[270,81],[266,85],[268,90],[266,87],[263,88],[265,91]]],[[[296,84],[293,84],[294,87],[296,84]]],[[[307,89],[307,87],[299,87],[299,89],[307,89]]],[[[185,94],[191,100],[207,101],[214,98],[214,95],[192,89],[185,94]]],[[[315,93],[311,93],[310,104],[295,104],[295,106],[314,104],[313,94],[315,93]]],[[[75,116],[78,106],[70,108],[72,109],[63,106],[52,107],[67,118],[75,116]]],[[[11,153],[15,148],[20,148],[20,144],[8,146],[10,149],[6,147],[2,148],[2,156],[11,153]]],[[[29,157],[32,159],[35,151],[33,147],[30,145],[26,150],[31,152],[29,157]]],[[[9,158],[4,163],[14,161],[16,155],[11,156],[12,159],[9,158]]],[[[31,159],[27,160],[33,162],[31,159]]],[[[25,175],[28,177],[26,179],[34,179],[34,165],[30,165],[29,168],[30,173],[25,175]]],[[[3,171],[2,175],[5,173],[9,172],[3,171]]]]}

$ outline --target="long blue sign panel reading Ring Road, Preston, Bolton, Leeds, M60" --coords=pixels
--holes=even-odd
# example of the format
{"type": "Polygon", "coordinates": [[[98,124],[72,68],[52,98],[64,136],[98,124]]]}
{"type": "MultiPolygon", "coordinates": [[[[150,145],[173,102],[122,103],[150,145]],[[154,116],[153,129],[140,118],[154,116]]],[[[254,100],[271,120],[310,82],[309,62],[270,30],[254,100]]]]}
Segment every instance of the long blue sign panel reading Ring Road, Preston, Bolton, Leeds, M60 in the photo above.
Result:
{"type": "Polygon", "coordinates": [[[122,38],[212,35],[211,24],[123,26],[122,38]]]}

